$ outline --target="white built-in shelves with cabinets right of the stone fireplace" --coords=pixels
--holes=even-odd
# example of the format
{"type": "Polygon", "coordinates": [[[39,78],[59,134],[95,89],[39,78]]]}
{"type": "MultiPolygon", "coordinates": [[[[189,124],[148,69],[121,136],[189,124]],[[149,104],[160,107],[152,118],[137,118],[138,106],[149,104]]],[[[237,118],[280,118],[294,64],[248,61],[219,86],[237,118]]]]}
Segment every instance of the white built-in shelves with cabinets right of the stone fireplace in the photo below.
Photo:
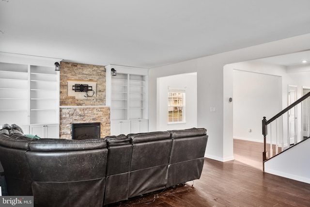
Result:
{"type": "Polygon", "coordinates": [[[110,78],[111,135],[147,132],[147,69],[119,65],[109,65],[106,69],[108,85],[110,78]],[[109,74],[112,67],[117,71],[116,76],[109,74]]]}

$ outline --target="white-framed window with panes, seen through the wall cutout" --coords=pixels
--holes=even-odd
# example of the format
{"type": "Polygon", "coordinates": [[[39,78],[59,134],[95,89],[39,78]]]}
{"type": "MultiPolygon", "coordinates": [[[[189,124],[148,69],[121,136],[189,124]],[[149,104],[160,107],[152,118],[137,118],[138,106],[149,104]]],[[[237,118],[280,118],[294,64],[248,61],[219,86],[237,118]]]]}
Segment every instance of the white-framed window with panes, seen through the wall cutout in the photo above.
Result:
{"type": "Polygon", "coordinates": [[[169,90],[168,123],[185,122],[185,90],[169,90]]]}

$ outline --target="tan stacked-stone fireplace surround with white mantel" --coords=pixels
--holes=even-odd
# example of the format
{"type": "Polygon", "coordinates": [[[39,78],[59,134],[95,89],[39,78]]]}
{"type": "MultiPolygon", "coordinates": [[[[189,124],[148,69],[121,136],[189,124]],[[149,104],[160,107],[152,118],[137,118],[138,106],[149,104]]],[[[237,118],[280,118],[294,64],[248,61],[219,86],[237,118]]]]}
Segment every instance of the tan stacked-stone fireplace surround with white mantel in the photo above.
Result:
{"type": "Polygon", "coordinates": [[[60,139],[72,139],[72,124],[101,123],[101,137],[110,135],[110,107],[106,105],[106,68],[100,65],[61,62],[60,139]],[[76,99],[68,96],[68,80],[97,82],[96,96],[76,99]]]}

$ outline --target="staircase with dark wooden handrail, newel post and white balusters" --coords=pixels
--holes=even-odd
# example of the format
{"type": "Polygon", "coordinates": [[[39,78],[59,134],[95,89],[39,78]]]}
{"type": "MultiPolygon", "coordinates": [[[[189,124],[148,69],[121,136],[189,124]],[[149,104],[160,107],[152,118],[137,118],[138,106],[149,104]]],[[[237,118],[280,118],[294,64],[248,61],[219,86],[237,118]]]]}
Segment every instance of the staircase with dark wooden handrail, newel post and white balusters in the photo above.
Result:
{"type": "Polygon", "coordinates": [[[262,129],[263,172],[310,183],[310,92],[271,119],[263,117],[262,129]]]}

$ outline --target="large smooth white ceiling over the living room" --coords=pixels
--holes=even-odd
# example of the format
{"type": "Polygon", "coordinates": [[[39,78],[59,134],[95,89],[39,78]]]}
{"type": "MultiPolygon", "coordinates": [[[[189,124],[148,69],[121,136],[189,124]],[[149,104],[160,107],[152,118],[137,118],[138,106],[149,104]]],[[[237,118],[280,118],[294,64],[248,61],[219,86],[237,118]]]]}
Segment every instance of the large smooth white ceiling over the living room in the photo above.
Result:
{"type": "Polygon", "coordinates": [[[152,68],[310,33],[310,0],[1,0],[0,52],[152,68]]]}

